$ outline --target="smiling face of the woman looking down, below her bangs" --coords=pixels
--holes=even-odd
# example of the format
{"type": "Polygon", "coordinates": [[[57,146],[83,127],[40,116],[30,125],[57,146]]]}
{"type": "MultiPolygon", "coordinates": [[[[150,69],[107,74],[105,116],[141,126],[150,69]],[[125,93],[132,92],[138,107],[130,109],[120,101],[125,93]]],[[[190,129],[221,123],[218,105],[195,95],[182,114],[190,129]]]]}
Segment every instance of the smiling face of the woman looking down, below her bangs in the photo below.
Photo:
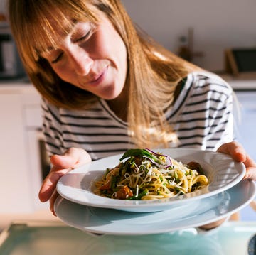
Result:
{"type": "Polygon", "coordinates": [[[127,49],[112,23],[103,18],[97,25],[76,23],[60,36],[57,48],[43,53],[56,74],[66,82],[103,99],[116,99],[127,76],[127,49]]]}

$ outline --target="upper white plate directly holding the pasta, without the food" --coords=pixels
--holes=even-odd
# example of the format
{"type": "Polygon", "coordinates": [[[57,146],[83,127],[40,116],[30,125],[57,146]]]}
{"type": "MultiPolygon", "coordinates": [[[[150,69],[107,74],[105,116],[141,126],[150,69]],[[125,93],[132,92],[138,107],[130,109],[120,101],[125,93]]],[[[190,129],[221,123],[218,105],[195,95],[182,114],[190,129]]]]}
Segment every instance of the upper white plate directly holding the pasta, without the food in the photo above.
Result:
{"type": "Polygon", "coordinates": [[[210,185],[196,192],[161,200],[114,200],[95,195],[95,180],[100,180],[106,168],[117,166],[119,158],[122,156],[119,154],[93,161],[70,171],[58,181],[58,193],[65,199],[82,205],[131,212],[157,212],[181,206],[183,202],[192,202],[203,197],[216,195],[233,187],[245,175],[245,166],[233,161],[230,156],[223,153],[183,148],[157,149],[155,151],[169,155],[182,163],[189,161],[200,163],[208,176],[210,185]]]}

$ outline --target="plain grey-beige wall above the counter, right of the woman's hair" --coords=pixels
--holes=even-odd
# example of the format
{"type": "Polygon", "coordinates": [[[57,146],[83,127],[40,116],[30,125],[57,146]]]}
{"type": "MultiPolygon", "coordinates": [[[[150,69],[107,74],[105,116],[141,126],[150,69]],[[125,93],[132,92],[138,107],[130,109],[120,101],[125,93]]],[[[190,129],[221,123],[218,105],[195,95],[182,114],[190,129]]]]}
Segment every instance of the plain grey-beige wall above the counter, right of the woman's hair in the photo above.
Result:
{"type": "Polygon", "coordinates": [[[256,46],[255,0],[122,0],[132,19],[169,50],[194,30],[195,63],[208,70],[224,67],[225,48],[256,46]]]}

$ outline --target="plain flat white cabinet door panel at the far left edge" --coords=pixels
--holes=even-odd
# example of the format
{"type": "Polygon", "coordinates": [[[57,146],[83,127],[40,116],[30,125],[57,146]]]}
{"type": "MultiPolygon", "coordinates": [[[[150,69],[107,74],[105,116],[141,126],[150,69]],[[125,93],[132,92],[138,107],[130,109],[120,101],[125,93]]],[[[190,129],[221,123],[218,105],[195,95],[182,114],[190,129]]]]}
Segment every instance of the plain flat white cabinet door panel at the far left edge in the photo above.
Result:
{"type": "Polygon", "coordinates": [[[31,193],[24,149],[20,94],[0,94],[0,205],[1,212],[27,210],[31,193]]]}

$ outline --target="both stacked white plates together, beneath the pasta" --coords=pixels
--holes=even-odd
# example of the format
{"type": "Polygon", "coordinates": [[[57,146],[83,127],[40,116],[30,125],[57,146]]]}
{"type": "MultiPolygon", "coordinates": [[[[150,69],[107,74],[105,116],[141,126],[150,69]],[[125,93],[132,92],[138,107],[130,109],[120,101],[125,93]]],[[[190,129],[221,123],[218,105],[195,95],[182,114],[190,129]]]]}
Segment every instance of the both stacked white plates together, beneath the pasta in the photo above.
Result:
{"type": "Polygon", "coordinates": [[[95,195],[95,181],[114,168],[122,154],[71,170],[57,184],[56,215],[65,224],[96,234],[157,234],[198,227],[228,217],[248,205],[255,183],[242,180],[245,166],[213,151],[157,149],[182,163],[196,161],[209,179],[207,188],[161,200],[115,200],[95,195]]]}

